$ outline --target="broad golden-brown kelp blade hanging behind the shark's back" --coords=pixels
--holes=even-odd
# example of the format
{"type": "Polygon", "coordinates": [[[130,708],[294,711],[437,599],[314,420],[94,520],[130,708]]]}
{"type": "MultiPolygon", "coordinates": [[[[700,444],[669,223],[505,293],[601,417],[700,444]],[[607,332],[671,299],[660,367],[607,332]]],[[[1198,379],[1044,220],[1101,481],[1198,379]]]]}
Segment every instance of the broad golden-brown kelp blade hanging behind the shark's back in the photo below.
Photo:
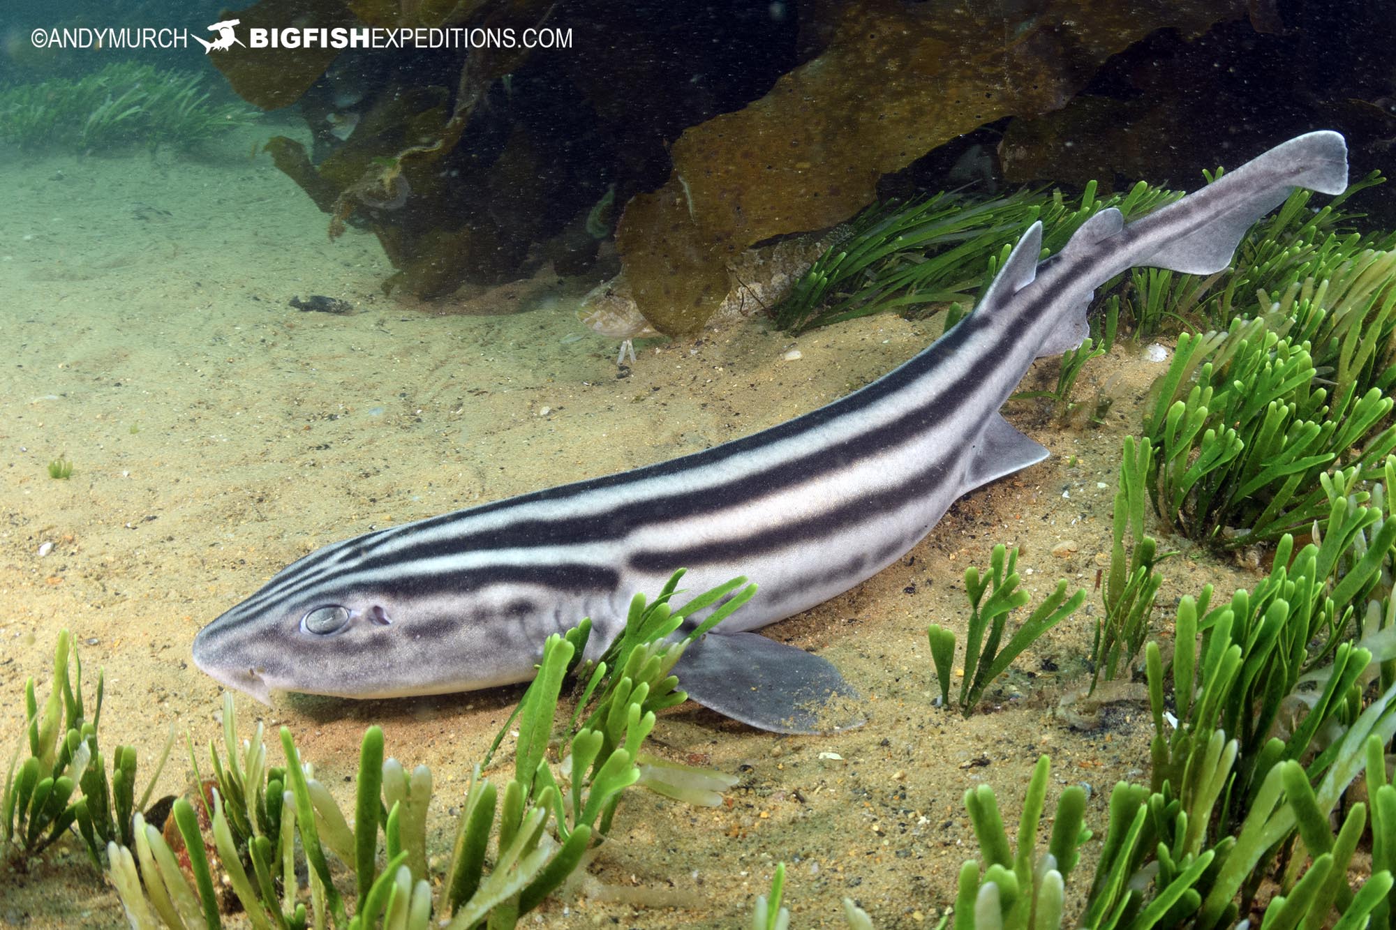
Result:
{"type": "Polygon", "coordinates": [[[723,264],[752,243],[829,228],[872,202],[882,175],[1004,116],[1058,109],[1154,29],[1199,32],[1244,4],[1057,0],[1013,31],[976,4],[829,10],[822,54],[685,130],[669,182],[627,204],[617,249],[660,332],[699,330],[726,293],[723,264]]]}

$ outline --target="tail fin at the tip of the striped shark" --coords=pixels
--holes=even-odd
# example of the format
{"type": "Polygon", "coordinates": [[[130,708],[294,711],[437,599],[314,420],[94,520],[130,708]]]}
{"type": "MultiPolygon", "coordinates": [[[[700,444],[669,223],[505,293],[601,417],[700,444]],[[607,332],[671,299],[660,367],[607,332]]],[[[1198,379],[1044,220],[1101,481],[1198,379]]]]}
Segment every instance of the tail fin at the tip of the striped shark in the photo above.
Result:
{"type": "Polygon", "coordinates": [[[1195,275],[1222,271],[1231,264],[1245,230],[1284,202],[1295,187],[1322,194],[1347,189],[1347,144],[1342,135],[1323,130],[1291,138],[1224,173],[1216,183],[1131,223],[1139,233],[1164,225],[1195,226],[1170,237],[1136,264],[1195,275]],[[1189,212],[1195,212],[1198,223],[1187,222],[1189,212]]]}

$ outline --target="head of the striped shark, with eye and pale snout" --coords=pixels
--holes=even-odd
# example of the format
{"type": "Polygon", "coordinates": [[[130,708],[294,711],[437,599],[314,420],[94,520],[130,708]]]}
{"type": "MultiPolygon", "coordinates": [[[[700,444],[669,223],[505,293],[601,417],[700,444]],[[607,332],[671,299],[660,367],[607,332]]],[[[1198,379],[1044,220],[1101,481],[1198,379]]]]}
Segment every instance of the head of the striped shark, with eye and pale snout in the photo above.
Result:
{"type": "Polygon", "coordinates": [[[378,698],[533,676],[558,623],[528,586],[494,584],[458,557],[376,570],[362,557],[371,536],[278,573],[198,633],[195,665],[262,702],[275,691],[378,698]]]}

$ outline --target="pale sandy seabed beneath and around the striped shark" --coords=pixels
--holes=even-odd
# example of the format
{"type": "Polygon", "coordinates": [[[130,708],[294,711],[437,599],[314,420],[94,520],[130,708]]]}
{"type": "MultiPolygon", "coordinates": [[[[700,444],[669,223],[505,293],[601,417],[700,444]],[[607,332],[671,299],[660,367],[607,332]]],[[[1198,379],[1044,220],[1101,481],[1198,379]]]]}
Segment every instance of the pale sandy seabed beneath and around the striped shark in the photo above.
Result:
{"type": "MultiPolygon", "coordinates": [[[[748,323],[645,344],[627,374],[614,344],[577,320],[589,285],[546,268],[434,303],[385,297],[392,270],[373,236],[329,242],[327,216],[269,158],[248,155],[275,131],[285,130],[248,130],[197,159],[0,152],[10,204],[0,218],[6,761],[21,739],[24,681],[47,687],[61,628],[78,642],[89,694],[105,669],[103,748],[137,746],[148,774],[170,725],[180,744],[186,730],[200,746],[219,739],[222,688],[194,667],[194,634],[295,559],[370,528],[744,436],[877,378],[931,338],[924,324],[885,316],[800,338],[748,323]],[[310,295],[356,313],[288,306],[310,295]],[[800,357],[787,360],[793,348],[800,357]],[[68,480],[49,478],[57,458],[73,462],[68,480]]],[[[1043,401],[1011,402],[1008,418],[1053,458],[960,500],[899,564],[765,630],[835,662],[866,694],[867,726],[796,737],[691,704],[666,714],[652,737],[659,753],[740,782],[715,809],[628,793],[593,881],[526,923],[740,926],[786,862],[794,926],[840,926],[843,896],[878,927],[934,926],[960,863],[977,855],[965,790],[991,785],[1016,822],[1043,753],[1053,757],[1048,811],[1068,783],[1090,792],[1096,839],[1079,894],[1110,788],[1148,779],[1141,688],[1110,691],[1094,729],[1060,705],[1085,681],[1120,440],[1138,429],[1159,371],[1129,345],[1093,362],[1076,392],[1093,406],[1106,385],[1114,405],[1103,427],[1064,426],[1043,401]],[[931,704],[926,626],[963,633],[962,574],[987,566],[1000,542],[1022,549],[1034,603],[1067,578],[1087,589],[1089,606],[1019,658],[966,721],[931,704]]],[[[1054,381],[1048,360],[1025,387],[1054,381]]],[[[1164,638],[1180,595],[1206,581],[1223,591],[1255,582],[1191,550],[1163,570],[1164,638]]],[[[281,695],[269,708],[240,697],[237,718],[243,730],[289,726],[342,804],[363,729],[380,723],[388,754],[433,769],[433,852],[444,860],[445,811],[519,694],[281,695]]],[[[176,751],[156,796],[190,779],[176,751]]],[[[0,891],[4,926],[124,926],[75,843],[28,869],[0,866],[0,891]]]]}

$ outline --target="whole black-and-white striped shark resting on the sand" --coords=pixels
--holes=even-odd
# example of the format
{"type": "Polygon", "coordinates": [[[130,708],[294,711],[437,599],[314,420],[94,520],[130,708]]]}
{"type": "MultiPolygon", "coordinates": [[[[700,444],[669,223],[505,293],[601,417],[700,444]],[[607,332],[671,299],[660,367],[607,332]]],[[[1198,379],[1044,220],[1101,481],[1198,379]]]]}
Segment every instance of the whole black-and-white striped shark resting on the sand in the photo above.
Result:
{"type": "Polygon", "coordinates": [[[589,616],[597,652],[637,592],[687,567],[690,591],[759,584],[676,667],[688,695],[762,729],[826,730],[854,690],[751,630],[877,574],[960,494],[1047,458],[998,408],[1033,359],[1081,345],[1101,282],[1134,265],[1220,271],[1293,189],[1346,184],[1343,137],[1309,133],[1129,225],[1104,209],[1043,263],[1033,223],[970,316],[860,391],[694,455],[320,549],[204,627],[194,660],[262,701],[524,681],[549,634],[589,616]]]}

